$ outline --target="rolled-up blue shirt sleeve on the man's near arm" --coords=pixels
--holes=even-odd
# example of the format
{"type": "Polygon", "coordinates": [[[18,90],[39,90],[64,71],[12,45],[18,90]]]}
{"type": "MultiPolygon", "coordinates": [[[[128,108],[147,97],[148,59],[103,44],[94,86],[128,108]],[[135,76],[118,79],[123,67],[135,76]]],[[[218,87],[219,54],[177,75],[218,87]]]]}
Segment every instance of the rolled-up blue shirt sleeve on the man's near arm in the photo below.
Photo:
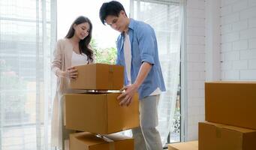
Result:
{"type": "Polygon", "coordinates": [[[155,36],[153,30],[149,26],[138,28],[137,38],[140,48],[141,63],[148,62],[151,65],[155,64],[155,36]]]}

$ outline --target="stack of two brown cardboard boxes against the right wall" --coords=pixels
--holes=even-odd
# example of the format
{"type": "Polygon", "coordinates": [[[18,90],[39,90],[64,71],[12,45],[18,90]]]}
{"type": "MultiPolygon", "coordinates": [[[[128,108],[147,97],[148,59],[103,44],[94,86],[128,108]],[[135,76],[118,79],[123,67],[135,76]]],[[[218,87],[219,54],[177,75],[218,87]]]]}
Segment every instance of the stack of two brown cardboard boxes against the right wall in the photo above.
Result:
{"type": "Polygon", "coordinates": [[[256,149],[256,82],[205,83],[199,150],[256,149]]]}

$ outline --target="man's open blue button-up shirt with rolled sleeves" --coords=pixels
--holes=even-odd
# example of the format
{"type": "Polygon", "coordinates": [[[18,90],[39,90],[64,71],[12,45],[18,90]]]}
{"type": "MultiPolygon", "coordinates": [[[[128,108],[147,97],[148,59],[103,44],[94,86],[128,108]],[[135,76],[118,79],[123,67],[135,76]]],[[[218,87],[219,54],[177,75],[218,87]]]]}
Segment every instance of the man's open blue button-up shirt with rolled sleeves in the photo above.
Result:
{"type": "MultiPolygon", "coordinates": [[[[149,96],[157,88],[164,92],[164,78],[158,58],[158,43],[154,29],[146,23],[133,19],[130,19],[128,28],[131,42],[131,83],[136,80],[143,62],[148,62],[152,65],[152,69],[138,89],[140,100],[149,96]]],[[[116,64],[125,67],[124,41],[125,34],[122,33],[116,41],[116,64]]],[[[128,79],[125,71],[125,86],[127,84],[128,79]]]]}

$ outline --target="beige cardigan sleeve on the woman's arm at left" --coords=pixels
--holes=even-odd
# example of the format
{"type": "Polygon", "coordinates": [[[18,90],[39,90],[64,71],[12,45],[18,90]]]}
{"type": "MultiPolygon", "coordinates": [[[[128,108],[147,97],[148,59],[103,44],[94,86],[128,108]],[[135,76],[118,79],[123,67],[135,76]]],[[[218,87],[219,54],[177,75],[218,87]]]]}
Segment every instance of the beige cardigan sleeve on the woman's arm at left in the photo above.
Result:
{"type": "Polygon", "coordinates": [[[51,70],[53,71],[53,74],[57,75],[57,72],[61,71],[61,68],[62,68],[62,46],[61,46],[61,40],[58,40],[53,52],[53,61],[51,63],[51,70]]]}

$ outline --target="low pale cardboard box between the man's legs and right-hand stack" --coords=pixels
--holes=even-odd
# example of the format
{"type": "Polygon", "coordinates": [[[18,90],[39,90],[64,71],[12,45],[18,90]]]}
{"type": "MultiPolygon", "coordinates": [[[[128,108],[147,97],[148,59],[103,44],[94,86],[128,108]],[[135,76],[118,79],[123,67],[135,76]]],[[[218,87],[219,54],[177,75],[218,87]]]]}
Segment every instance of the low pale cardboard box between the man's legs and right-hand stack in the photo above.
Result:
{"type": "Polygon", "coordinates": [[[169,144],[168,150],[198,150],[198,141],[169,144]]]}

